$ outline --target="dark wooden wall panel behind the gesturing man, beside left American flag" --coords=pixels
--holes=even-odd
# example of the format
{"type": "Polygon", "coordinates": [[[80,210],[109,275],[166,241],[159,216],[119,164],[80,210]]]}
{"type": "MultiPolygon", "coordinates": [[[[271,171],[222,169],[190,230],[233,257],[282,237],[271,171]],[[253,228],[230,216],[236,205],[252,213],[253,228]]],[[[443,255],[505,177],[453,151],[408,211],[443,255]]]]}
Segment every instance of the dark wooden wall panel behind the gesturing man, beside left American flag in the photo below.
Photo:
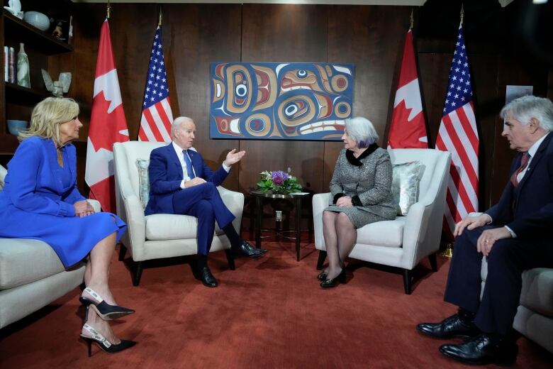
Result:
{"type": "MultiPolygon", "coordinates": [[[[173,114],[189,116],[196,123],[196,143],[206,163],[216,169],[228,151],[239,149],[238,140],[209,138],[210,62],[240,60],[239,4],[172,4],[164,6],[164,50],[173,114]]],[[[238,182],[244,163],[233,165],[224,186],[244,191],[238,182]]]]}

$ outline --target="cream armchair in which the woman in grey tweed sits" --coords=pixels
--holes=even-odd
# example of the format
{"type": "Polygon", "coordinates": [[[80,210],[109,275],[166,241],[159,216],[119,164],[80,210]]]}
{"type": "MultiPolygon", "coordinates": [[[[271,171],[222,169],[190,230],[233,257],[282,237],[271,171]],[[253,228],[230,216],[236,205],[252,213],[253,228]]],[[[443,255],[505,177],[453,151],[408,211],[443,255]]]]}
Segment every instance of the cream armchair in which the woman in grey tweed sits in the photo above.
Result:
{"type": "MultiPolygon", "coordinates": [[[[421,259],[428,256],[432,270],[437,270],[435,253],[440,248],[450,154],[430,149],[389,149],[389,153],[392,164],[419,160],[424,165],[418,202],[406,216],[359,228],[350,258],[402,268],[405,293],[410,294],[411,271],[421,259]]],[[[331,200],[330,192],[313,196],[315,248],[320,250],[318,270],[326,258],[323,211],[331,200]]]]}

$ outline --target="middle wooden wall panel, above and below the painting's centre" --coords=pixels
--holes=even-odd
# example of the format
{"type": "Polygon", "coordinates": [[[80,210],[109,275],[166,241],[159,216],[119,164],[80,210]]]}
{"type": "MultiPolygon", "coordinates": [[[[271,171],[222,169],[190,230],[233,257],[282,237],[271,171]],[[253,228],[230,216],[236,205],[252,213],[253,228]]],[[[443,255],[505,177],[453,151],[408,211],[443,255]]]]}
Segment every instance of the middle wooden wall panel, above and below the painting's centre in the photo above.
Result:
{"type": "MultiPolygon", "coordinates": [[[[244,4],[242,61],[326,62],[328,6],[244,4]]],[[[240,141],[246,150],[240,187],[255,189],[263,170],[286,170],[311,192],[321,192],[321,141],[240,141]]]]}

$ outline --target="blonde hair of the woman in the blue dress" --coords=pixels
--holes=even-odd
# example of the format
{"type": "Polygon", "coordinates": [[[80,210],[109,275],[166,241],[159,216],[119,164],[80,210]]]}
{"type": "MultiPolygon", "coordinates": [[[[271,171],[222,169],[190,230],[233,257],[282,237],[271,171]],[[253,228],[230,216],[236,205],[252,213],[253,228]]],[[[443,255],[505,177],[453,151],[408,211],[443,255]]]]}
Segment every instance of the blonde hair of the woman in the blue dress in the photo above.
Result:
{"type": "Polygon", "coordinates": [[[73,99],[65,97],[47,97],[33,108],[30,114],[30,127],[19,133],[19,141],[39,136],[52,138],[56,146],[62,145],[60,126],[79,116],[79,105],[73,99]]]}

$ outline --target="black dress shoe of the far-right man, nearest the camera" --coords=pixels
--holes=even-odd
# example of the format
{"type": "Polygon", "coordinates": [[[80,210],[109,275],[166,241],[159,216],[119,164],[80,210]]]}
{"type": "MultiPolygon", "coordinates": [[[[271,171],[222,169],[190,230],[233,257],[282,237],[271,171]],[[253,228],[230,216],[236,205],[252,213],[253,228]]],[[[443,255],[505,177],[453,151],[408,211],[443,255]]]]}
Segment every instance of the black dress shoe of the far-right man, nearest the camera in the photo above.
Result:
{"type": "Polygon", "coordinates": [[[517,360],[518,346],[514,341],[494,339],[488,334],[481,334],[460,345],[442,345],[440,352],[465,364],[513,365],[517,360]]]}

